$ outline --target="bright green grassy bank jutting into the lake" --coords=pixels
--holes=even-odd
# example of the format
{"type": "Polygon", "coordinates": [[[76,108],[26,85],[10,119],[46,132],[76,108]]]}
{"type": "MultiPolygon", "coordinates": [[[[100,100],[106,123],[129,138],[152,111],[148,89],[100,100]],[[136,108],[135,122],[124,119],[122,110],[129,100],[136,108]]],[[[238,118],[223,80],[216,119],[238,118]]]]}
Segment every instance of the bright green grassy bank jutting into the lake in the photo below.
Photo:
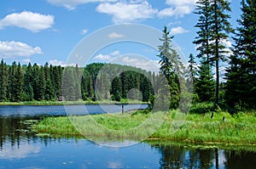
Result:
{"type": "Polygon", "coordinates": [[[197,144],[256,144],[256,113],[237,114],[218,112],[211,118],[206,115],[189,114],[183,118],[171,111],[156,132],[143,130],[160,121],[162,114],[87,115],[73,117],[47,117],[36,126],[39,133],[57,135],[83,135],[90,137],[143,138],[148,140],[172,140],[197,144]],[[223,121],[223,117],[225,120],[223,121]],[[73,121],[73,123],[70,121],[73,121]],[[146,122],[145,122],[146,121],[146,122]],[[98,127],[100,126],[100,127],[98,127]],[[76,129],[78,128],[78,130],[76,129]]]}

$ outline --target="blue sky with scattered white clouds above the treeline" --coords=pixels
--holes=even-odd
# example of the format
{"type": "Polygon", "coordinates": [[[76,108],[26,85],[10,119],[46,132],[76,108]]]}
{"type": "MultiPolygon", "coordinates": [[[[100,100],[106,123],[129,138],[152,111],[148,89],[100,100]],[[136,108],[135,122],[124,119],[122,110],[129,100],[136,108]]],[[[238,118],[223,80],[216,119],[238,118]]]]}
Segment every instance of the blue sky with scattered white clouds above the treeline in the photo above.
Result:
{"type": "MultiPolygon", "coordinates": [[[[159,31],[165,25],[174,36],[173,41],[188,58],[196,54],[192,43],[198,16],[193,14],[196,0],[1,0],[0,2],[0,57],[8,64],[13,61],[44,65],[67,65],[67,58],[84,38],[109,25],[136,23],[159,31]]],[[[241,14],[240,1],[231,1],[231,24],[241,14]]],[[[137,32],[139,33],[139,32],[137,32]]],[[[121,38],[110,32],[109,38],[121,38]]],[[[99,37],[100,38],[100,37],[99,37]]],[[[230,40],[230,42],[232,42],[230,40]]],[[[230,42],[227,42],[230,45],[230,42]]],[[[94,41],[91,42],[93,44],[94,41]]],[[[86,62],[108,62],[125,55],[127,62],[141,60],[129,54],[157,60],[157,51],[145,45],[122,42],[96,51],[86,62]],[[91,57],[94,57],[92,59],[91,57]]],[[[84,47],[84,51],[90,47],[84,47]]],[[[83,65],[82,65],[83,66],[83,65]]]]}

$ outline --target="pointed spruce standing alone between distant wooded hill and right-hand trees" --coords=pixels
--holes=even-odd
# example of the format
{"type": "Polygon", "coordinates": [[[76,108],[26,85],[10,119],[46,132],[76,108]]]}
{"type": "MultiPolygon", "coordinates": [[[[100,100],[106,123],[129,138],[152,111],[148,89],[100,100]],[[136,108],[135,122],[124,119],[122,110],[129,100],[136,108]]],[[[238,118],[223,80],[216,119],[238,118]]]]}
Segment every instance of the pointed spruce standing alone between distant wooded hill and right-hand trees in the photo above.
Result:
{"type": "Polygon", "coordinates": [[[180,60],[174,49],[172,49],[172,36],[170,31],[167,31],[167,27],[164,27],[160,42],[162,45],[159,46],[160,57],[160,73],[166,76],[166,81],[170,88],[171,104],[170,109],[177,109],[179,103],[179,87],[178,87],[178,73],[180,70],[180,60]]]}

